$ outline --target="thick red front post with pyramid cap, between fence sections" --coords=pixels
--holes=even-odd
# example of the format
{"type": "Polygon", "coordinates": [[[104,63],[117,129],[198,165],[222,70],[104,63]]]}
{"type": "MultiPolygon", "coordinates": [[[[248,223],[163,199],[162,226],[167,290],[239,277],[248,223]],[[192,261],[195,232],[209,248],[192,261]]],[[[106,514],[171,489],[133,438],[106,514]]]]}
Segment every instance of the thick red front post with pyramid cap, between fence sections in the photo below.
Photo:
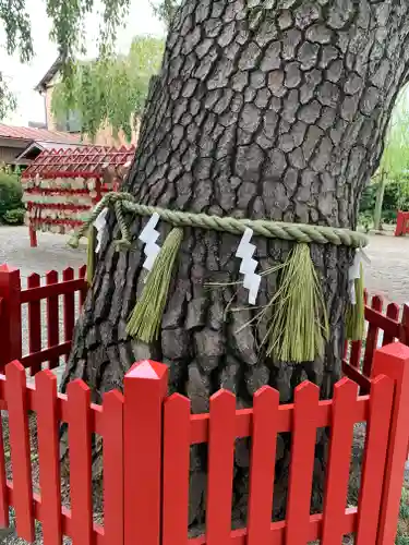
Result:
{"type": "Polygon", "coordinates": [[[124,378],[124,545],[159,545],[163,404],[168,367],[135,363],[124,378]]]}

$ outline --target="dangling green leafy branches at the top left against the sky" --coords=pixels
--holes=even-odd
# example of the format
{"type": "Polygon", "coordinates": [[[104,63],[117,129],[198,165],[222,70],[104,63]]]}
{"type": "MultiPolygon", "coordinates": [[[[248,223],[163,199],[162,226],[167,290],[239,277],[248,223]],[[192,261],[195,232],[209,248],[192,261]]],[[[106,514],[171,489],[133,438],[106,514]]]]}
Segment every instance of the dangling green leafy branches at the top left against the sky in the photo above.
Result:
{"type": "MultiPolygon", "coordinates": [[[[39,0],[36,0],[37,2],[39,0]]],[[[51,39],[57,44],[62,60],[63,80],[70,88],[77,53],[85,53],[86,15],[101,13],[99,32],[100,58],[112,50],[117,28],[125,20],[131,0],[44,0],[47,15],[51,20],[51,39]]],[[[26,10],[26,0],[0,0],[0,22],[5,31],[5,50],[19,52],[22,62],[34,56],[32,21],[26,10]]],[[[71,85],[72,88],[72,85],[71,85]]],[[[0,119],[15,108],[15,100],[0,77],[0,119]]]]}

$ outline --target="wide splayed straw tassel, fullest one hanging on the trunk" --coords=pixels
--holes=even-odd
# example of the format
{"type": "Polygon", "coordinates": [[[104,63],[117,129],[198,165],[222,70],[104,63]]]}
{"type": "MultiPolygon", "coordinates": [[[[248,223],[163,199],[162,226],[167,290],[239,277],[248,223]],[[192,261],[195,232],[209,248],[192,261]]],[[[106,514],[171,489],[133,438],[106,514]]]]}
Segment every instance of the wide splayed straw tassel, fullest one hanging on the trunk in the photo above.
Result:
{"type": "Polygon", "coordinates": [[[328,317],[308,244],[296,244],[281,268],[281,280],[270,303],[267,354],[278,362],[312,362],[324,355],[328,317]]]}

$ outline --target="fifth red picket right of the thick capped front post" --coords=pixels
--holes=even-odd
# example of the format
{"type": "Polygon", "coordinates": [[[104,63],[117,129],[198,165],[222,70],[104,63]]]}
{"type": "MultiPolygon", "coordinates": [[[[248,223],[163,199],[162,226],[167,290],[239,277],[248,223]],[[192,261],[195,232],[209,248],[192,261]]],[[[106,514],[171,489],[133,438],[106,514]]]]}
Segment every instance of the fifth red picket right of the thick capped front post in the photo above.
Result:
{"type": "Polygon", "coordinates": [[[345,510],[357,396],[358,385],[349,378],[342,378],[334,387],[322,545],[341,543],[346,533],[345,510]]]}

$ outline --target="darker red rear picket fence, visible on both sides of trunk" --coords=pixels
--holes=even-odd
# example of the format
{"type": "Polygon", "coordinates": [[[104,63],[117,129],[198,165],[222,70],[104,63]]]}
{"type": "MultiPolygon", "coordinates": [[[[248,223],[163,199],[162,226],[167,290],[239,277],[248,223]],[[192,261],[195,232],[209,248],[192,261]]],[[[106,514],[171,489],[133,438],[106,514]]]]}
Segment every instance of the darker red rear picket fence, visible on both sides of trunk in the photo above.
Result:
{"type": "MultiPolygon", "coordinates": [[[[62,280],[56,270],[49,271],[41,284],[40,276],[33,274],[27,278],[27,288],[22,289],[20,270],[8,265],[0,265],[0,370],[13,360],[19,360],[24,367],[35,375],[43,364],[55,368],[59,358],[70,353],[75,319],[85,300],[88,289],[85,279],[85,266],[81,267],[75,278],[74,270],[68,267],[62,271],[62,280]],[[79,304],[75,304],[79,293],[79,304]],[[62,298],[62,301],[59,301],[62,298]],[[46,303],[45,324],[41,316],[41,302],[46,303]],[[59,302],[61,304],[59,304],[59,302]],[[28,347],[23,355],[22,310],[27,306],[28,347]],[[41,340],[41,327],[44,327],[41,340]],[[62,340],[63,339],[63,340],[62,340]],[[45,347],[44,347],[45,346],[45,347]]],[[[368,300],[368,294],[365,294],[368,300]]],[[[372,298],[365,305],[368,325],[364,341],[346,342],[344,372],[368,390],[368,377],[371,376],[372,361],[380,336],[382,346],[399,340],[409,346],[409,306],[390,303],[383,313],[381,296],[372,298]],[[400,315],[401,314],[401,315],[400,315]],[[363,346],[365,347],[363,351],[363,346]],[[361,361],[362,370],[361,370],[361,361]],[[348,373],[347,373],[348,371],[348,373]],[[361,371],[356,373],[356,371],[361,371]]]]}

